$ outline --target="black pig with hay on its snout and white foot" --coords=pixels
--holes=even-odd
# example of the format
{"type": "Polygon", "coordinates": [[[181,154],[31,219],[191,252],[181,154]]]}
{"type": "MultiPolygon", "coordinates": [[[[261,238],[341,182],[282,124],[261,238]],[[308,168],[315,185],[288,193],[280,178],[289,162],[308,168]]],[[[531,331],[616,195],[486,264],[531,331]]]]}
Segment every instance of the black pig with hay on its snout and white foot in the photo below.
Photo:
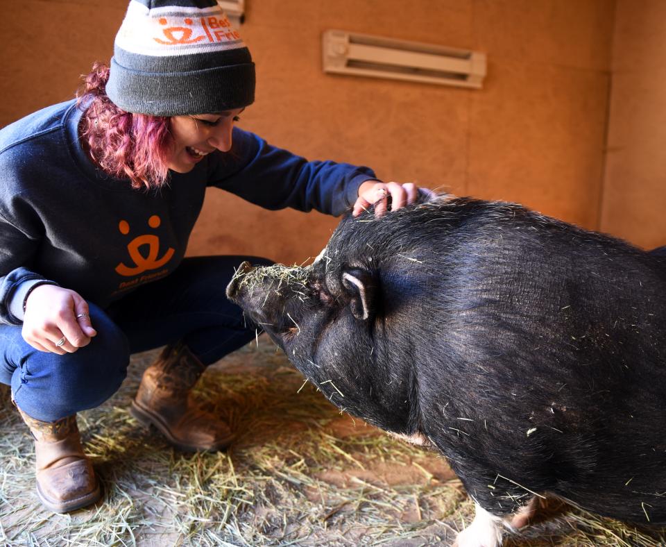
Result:
{"type": "Polygon", "coordinates": [[[436,447],[495,546],[536,496],[666,522],[666,259],[520,205],[347,217],[227,289],[338,407],[436,447]]]}

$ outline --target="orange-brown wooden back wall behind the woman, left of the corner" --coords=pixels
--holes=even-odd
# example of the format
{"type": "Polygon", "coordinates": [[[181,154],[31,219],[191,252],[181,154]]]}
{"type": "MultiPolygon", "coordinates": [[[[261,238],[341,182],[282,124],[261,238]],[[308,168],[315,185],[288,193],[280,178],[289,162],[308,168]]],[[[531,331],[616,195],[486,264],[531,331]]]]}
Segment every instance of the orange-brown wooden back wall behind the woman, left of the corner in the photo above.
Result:
{"type": "MultiPolygon", "coordinates": [[[[0,126],[71,97],[92,61],[110,58],[126,6],[4,3],[0,126]]],[[[241,35],[257,63],[257,101],[241,126],[308,158],[518,201],[587,228],[601,226],[603,200],[604,228],[624,233],[602,186],[614,18],[614,0],[247,0],[241,35]],[[325,75],[327,28],[485,51],[484,89],[325,75]]],[[[213,190],[189,254],[302,262],[335,224],[213,190]]]]}

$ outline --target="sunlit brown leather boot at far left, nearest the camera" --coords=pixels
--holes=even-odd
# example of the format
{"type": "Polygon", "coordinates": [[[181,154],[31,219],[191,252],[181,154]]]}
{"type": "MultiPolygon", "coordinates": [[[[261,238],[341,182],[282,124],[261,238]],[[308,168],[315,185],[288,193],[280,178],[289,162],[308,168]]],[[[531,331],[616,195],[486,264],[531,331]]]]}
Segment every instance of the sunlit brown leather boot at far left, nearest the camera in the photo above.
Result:
{"type": "Polygon", "coordinates": [[[99,500],[101,489],[83,453],[76,414],[48,422],[36,420],[20,408],[19,413],[35,437],[37,495],[44,506],[67,513],[99,500]]]}

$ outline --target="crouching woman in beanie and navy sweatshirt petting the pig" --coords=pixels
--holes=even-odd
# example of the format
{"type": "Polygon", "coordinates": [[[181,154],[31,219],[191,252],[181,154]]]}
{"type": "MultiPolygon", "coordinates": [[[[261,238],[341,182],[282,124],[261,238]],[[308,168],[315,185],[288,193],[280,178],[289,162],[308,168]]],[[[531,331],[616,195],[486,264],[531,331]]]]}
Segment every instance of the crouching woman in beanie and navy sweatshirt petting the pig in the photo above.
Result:
{"type": "Polygon", "coordinates": [[[416,198],[373,171],[307,162],[234,128],[254,64],[214,0],[132,0],[110,68],[78,101],[0,131],[0,381],[35,437],[37,493],[56,512],[99,500],[76,412],[121,385],[131,353],[166,345],[133,402],[186,451],[225,423],[189,399],[207,365],[246,344],[224,290],[244,256],[184,258],[208,186],[269,209],[381,214],[416,198]]]}

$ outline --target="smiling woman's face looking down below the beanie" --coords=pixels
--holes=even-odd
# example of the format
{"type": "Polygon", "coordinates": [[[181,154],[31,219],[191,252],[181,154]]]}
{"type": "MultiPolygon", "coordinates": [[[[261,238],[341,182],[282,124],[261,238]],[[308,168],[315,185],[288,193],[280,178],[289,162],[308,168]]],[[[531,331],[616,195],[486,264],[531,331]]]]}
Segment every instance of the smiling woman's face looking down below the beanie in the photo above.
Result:
{"type": "Polygon", "coordinates": [[[236,108],[219,114],[172,116],[173,144],[167,167],[176,173],[189,173],[208,153],[214,150],[228,152],[234,121],[238,121],[238,115],[243,110],[236,108]]]}

